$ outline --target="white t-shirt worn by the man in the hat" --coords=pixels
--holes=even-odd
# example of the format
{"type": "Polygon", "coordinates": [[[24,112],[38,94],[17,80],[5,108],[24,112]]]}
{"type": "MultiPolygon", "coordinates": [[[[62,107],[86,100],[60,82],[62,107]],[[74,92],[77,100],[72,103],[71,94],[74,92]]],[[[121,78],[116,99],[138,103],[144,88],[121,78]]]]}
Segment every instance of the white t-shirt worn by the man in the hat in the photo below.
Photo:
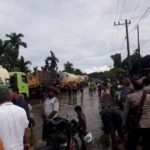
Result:
{"type": "MultiPolygon", "coordinates": [[[[59,101],[56,97],[53,98],[47,98],[44,102],[44,114],[46,117],[48,117],[53,111],[58,112],[59,111],[59,101]]],[[[57,117],[57,114],[54,116],[54,118],[57,117]]]]}

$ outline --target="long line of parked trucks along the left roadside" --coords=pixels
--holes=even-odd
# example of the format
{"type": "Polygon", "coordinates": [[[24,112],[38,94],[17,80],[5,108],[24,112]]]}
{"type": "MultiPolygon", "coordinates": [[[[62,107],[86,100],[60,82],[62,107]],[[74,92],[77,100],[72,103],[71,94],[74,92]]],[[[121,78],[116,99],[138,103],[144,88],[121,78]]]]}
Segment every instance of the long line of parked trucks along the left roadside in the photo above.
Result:
{"type": "Polygon", "coordinates": [[[80,82],[88,80],[87,76],[75,75],[67,72],[39,71],[26,75],[23,72],[8,72],[0,66],[0,88],[18,87],[19,92],[27,97],[40,96],[41,90],[46,86],[59,86],[66,90],[69,82],[80,82]]]}

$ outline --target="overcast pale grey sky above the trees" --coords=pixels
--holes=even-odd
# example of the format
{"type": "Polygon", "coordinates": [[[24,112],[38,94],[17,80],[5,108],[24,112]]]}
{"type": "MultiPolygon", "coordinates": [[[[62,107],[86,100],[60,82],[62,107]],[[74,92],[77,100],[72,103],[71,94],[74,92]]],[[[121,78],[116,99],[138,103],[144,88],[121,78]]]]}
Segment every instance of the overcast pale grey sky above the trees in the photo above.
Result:
{"type": "MultiPolygon", "coordinates": [[[[127,55],[125,26],[114,27],[114,21],[131,19],[130,31],[148,6],[149,0],[0,0],[0,38],[23,33],[28,47],[20,55],[32,61],[31,68],[40,69],[52,50],[59,70],[70,61],[86,73],[105,71],[113,66],[112,54],[127,55]]],[[[140,22],[143,56],[150,53],[149,17],[140,22]]],[[[129,38],[132,54],[137,48],[134,28],[129,38]]]]}

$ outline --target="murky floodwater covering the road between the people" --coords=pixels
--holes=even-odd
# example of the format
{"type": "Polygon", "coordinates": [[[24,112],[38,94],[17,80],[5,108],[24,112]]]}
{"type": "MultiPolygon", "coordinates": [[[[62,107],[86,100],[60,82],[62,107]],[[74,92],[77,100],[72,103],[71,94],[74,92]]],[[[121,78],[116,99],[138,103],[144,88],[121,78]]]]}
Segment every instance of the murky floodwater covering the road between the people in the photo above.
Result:
{"type": "MultiPolygon", "coordinates": [[[[94,136],[93,143],[89,144],[88,150],[100,150],[102,148],[100,145],[100,136],[103,134],[101,130],[101,119],[99,116],[100,103],[97,92],[89,93],[87,89],[84,90],[83,95],[78,92],[76,98],[69,98],[68,93],[61,93],[58,96],[60,100],[60,111],[59,116],[67,118],[69,120],[76,119],[76,113],[74,112],[75,105],[81,105],[83,111],[86,115],[88,131],[94,136]]],[[[36,126],[33,130],[32,145],[33,150],[38,149],[38,147],[44,145],[45,143],[42,139],[42,120],[41,111],[42,105],[40,100],[32,101],[33,113],[36,121],[36,126]]]]}

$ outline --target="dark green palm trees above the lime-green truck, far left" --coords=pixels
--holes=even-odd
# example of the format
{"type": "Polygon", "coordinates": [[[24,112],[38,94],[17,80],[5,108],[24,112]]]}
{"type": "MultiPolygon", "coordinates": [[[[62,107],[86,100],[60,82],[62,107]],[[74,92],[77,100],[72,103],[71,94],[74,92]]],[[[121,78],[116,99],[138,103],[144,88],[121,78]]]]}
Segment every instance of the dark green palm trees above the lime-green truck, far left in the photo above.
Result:
{"type": "Polygon", "coordinates": [[[8,71],[21,71],[28,73],[30,61],[25,61],[24,57],[19,58],[20,46],[26,48],[27,44],[22,42],[23,34],[6,34],[7,40],[0,39],[0,64],[8,71]]]}

